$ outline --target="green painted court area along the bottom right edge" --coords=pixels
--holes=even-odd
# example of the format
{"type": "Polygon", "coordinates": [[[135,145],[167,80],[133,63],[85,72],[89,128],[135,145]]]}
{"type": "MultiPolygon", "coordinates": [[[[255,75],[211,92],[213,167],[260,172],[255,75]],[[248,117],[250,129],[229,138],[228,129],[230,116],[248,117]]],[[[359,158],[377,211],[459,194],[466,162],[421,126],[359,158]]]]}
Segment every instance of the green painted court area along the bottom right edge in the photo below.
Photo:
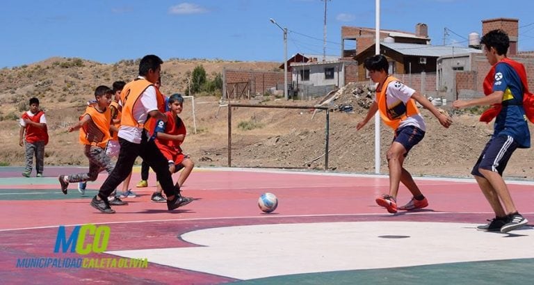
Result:
{"type": "MultiPolygon", "coordinates": [[[[379,245],[378,245],[379,246],[379,245]]],[[[327,249],[318,249],[327,250],[327,249]]],[[[424,250],[424,249],[421,249],[424,250]]],[[[495,250],[506,250],[499,248],[495,250]]],[[[530,250],[534,250],[531,248],[530,250]]],[[[392,253],[394,254],[394,253],[392,253]]],[[[428,257],[432,259],[432,257],[428,257]]],[[[471,261],[251,279],[237,284],[533,284],[534,259],[471,261]]]]}

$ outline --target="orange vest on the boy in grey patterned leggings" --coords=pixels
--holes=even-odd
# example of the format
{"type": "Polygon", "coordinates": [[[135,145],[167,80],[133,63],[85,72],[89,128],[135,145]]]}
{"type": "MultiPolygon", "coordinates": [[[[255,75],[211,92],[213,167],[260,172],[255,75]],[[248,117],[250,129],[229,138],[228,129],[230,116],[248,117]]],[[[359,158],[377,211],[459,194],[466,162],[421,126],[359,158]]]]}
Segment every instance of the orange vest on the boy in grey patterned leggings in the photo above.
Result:
{"type": "Polygon", "coordinates": [[[96,106],[88,106],[80,120],[89,115],[91,120],[80,129],[80,142],[82,145],[92,145],[106,148],[111,138],[109,126],[111,125],[111,111],[106,108],[104,112],[97,110],[96,106]]]}

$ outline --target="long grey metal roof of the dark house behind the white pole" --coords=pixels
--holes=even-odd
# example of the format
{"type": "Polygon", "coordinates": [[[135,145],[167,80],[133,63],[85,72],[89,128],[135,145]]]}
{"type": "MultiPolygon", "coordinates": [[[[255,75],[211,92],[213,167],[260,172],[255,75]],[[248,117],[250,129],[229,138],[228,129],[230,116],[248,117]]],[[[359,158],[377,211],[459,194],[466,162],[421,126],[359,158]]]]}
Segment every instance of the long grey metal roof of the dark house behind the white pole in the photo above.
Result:
{"type": "Polygon", "coordinates": [[[433,46],[430,44],[404,44],[401,42],[380,42],[389,49],[394,49],[405,56],[448,56],[452,54],[481,54],[480,49],[470,47],[433,46]]]}

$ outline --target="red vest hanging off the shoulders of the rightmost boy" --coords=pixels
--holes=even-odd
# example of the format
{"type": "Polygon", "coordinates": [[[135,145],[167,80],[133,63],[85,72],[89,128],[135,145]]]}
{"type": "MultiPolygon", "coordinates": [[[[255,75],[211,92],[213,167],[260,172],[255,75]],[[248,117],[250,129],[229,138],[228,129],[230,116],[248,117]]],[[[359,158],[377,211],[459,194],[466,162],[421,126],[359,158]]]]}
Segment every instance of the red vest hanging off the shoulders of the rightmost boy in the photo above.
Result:
{"type": "MultiPolygon", "coordinates": [[[[484,95],[490,95],[493,93],[493,83],[495,80],[495,68],[499,63],[505,63],[512,67],[523,84],[523,109],[525,111],[526,118],[534,123],[534,95],[531,92],[528,92],[528,81],[526,80],[526,71],[524,65],[518,63],[515,60],[509,58],[503,58],[498,63],[495,63],[492,66],[492,69],[487,72],[486,78],[484,79],[483,90],[484,95]]],[[[503,105],[500,103],[492,104],[482,115],[480,115],[480,122],[491,122],[494,117],[501,113],[503,105]]]]}

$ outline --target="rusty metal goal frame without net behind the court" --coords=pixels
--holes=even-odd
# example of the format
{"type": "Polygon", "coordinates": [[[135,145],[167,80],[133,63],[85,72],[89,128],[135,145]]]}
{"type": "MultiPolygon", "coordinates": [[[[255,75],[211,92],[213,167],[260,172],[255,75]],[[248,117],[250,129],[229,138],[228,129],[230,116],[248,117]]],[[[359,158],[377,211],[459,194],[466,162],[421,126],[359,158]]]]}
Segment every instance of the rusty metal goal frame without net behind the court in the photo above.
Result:
{"type": "MultiPolygon", "coordinates": [[[[326,111],[325,120],[325,170],[328,170],[328,148],[330,136],[330,109],[325,106],[275,106],[275,105],[250,105],[228,103],[228,167],[232,167],[232,107],[243,108],[282,108],[282,109],[306,109],[306,110],[324,110],[326,111]]],[[[321,156],[319,156],[321,157],[321,156]]]]}

